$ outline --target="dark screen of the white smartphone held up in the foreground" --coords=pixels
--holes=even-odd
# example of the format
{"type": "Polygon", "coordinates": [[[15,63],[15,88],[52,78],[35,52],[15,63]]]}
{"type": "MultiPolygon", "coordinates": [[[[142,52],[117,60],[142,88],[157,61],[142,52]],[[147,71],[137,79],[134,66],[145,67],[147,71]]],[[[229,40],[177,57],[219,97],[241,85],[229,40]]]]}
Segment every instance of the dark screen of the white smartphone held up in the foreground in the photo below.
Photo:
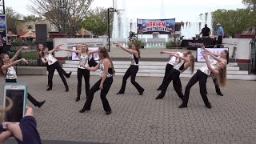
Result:
{"type": "MultiPolygon", "coordinates": [[[[6,97],[10,98],[14,106],[6,112],[5,122],[20,122],[23,117],[24,90],[6,90],[6,97]]],[[[6,100],[6,106],[9,106],[6,100]]]]}

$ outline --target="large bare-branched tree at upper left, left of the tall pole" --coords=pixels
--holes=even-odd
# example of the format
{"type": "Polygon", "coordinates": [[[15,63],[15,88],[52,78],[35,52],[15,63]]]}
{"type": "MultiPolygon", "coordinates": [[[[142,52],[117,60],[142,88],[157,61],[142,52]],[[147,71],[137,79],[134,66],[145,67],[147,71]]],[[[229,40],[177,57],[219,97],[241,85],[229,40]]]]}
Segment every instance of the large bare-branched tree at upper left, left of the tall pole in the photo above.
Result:
{"type": "Polygon", "coordinates": [[[30,0],[28,10],[47,18],[60,34],[74,36],[94,0],[30,0]]]}

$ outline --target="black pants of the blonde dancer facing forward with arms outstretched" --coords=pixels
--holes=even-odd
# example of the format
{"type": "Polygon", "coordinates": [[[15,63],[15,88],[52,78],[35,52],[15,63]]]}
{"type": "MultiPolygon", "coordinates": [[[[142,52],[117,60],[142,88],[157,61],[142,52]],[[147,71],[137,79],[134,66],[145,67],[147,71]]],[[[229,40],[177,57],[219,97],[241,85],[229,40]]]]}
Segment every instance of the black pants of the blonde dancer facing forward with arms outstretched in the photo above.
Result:
{"type": "Polygon", "coordinates": [[[90,70],[78,68],[78,97],[81,95],[82,76],[85,78],[86,97],[88,97],[90,90],[90,70]]]}

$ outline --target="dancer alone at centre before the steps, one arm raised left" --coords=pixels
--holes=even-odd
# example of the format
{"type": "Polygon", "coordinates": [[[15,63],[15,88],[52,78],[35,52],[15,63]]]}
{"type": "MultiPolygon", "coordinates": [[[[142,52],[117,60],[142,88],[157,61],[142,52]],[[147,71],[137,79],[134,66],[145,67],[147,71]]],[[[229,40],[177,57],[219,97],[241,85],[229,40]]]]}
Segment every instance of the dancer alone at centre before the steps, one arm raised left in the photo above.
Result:
{"type": "Polygon", "coordinates": [[[138,90],[139,95],[142,95],[144,92],[144,89],[142,86],[139,86],[138,82],[135,82],[136,74],[138,73],[138,58],[140,58],[140,51],[138,50],[139,47],[135,44],[131,45],[131,50],[126,49],[126,47],[123,47],[118,42],[115,42],[115,46],[119,46],[122,48],[122,50],[125,50],[126,52],[130,53],[130,67],[128,70],[126,70],[126,74],[122,78],[122,87],[121,90],[117,94],[124,94],[126,90],[126,81],[130,77],[130,82],[136,87],[138,90]]]}

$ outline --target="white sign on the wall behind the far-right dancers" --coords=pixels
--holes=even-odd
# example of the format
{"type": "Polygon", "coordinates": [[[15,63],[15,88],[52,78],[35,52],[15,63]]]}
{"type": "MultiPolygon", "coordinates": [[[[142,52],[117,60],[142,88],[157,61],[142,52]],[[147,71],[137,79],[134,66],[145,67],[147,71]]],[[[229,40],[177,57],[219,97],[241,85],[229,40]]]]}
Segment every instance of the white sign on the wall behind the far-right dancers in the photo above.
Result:
{"type": "MultiPolygon", "coordinates": [[[[206,48],[206,50],[209,50],[214,54],[221,54],[221,52],[223,50],[229,50],[229,48],[227,48],[227,47],[224,47],[224,48],[206,48]]],[[[198,62],[206,62],[206,59],[203,58],[203,56],[202,56],[202,54],[204,54],[204,53],[205,53],[205,51],[202,50],[202,48],[198,48],[198,50],[197,50],[197,61],[198,62]]],[[[209,58],[210,62],[212,62],[214,60],[214,58],[212,58],[210,55],[208,56],[208,58],[209,58]]]]}

